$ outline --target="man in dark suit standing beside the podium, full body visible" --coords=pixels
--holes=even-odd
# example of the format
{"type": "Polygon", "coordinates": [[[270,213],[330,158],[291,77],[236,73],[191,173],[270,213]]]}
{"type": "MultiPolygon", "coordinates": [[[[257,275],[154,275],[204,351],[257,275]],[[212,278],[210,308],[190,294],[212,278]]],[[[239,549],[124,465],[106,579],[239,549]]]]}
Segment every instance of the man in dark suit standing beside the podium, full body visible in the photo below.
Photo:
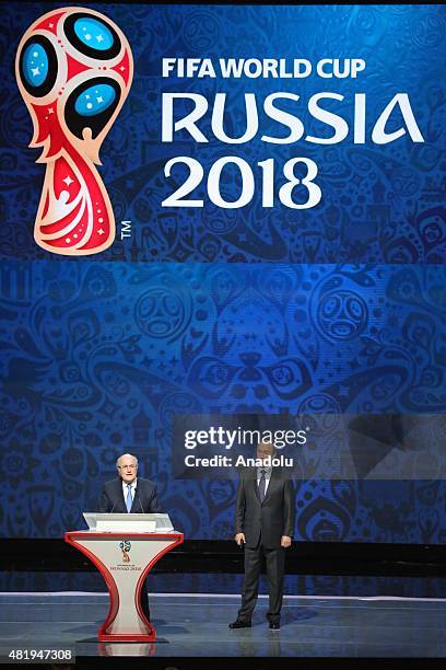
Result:
{"type": "Polygon", "coordinates": [[[273,444],[257,447],[259,467],[240,471],[235,506],[235,541],[245,545],[245,581],[242,607],[230,628],[248,628],[259,592],[261,559],[265,556],[269,582],[269,626],[280,629],[283,599],[285,548],[294,528],[294,487],[282,467],[272,467],[273,444]]]}

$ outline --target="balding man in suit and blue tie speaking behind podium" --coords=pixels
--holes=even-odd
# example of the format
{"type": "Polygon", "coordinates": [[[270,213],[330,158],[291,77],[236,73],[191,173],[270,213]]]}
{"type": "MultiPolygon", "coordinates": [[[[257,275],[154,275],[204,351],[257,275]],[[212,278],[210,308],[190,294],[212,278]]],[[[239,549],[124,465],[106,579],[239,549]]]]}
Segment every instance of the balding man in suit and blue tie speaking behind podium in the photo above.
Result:
{"type": "MultiPolygon", "coordinates": [[[[138,459],[124,453],[116,461],[118,477],[104,484],[97,505],[99,512],[148,515],[161,512],[156,484],[138,477],[138,459]]],[[[141,590],[141,609],[150,621],[146,584],[141,590]]]]}

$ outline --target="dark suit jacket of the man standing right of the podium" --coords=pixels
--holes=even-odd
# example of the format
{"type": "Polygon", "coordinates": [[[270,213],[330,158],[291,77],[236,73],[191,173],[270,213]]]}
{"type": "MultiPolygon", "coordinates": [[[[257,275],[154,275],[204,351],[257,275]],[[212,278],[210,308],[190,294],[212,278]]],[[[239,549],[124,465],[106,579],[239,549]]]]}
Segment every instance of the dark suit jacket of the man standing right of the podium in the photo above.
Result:
{"type": "Polygon", "coordinates": [[[260,533],[267,548],[280,546],[282,535],[293,536],[294,486],[287,472],[273,467],[267,495],[260,503],[257,467],[240,470],[235,505],[235,532],[245,533],[246,546],[256,547],[260,533]]]}

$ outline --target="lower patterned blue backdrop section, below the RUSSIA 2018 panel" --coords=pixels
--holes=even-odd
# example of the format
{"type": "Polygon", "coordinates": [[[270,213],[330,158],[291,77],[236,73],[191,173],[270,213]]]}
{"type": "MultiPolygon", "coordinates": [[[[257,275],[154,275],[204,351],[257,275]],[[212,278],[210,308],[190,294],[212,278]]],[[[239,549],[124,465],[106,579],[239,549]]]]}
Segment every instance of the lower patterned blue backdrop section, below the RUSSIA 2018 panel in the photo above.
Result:
{"type": "MultiPolygon", "coordinates": [[[[230,539],[235,482],[173,477],[173,417],[444,414],[445,285],[438,265],[3,263],[3,534],[81,525],[129,450],[188,538],[230,539]],[[366,309],[343,302],[328,328],[336,289],[366,309]]],[[[439,481],[298,483],[295,535],[444,542],[445,496],[439,481]]]]}

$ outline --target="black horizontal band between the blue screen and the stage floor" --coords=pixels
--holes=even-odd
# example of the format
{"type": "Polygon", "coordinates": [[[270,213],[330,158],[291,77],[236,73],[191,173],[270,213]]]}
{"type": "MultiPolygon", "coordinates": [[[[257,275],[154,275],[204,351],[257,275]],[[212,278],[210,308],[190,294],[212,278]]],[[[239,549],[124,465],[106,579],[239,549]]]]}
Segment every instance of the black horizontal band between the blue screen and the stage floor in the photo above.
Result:
{"type": "MultiPolygon", "coordinates": [[[[0,570],[93,571],[62,539],[0,539],[0,570]]],[[[233,540],[185,540],[155,566],[159,573],[240,573],[243,552],[233,540]]],[[[293,542],[289,574],[446,576],[446,546],[363,542],[293,542]]]]}

